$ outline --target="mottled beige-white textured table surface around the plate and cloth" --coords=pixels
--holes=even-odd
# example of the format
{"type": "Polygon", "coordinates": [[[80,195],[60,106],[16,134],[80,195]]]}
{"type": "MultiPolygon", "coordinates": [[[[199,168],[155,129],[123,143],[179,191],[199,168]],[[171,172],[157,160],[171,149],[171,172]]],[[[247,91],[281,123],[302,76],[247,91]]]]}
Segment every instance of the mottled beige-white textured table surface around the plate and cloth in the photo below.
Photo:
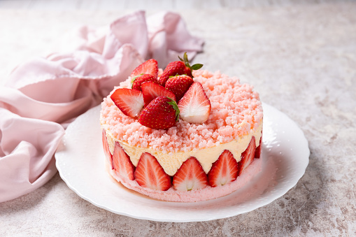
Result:
{"type": "MultiPolygon", "coordinates": [[[[0,8],[1,84],[17,64],[60,50],[62,34],[130,11],[0,8]]],[[[0,203],[0,236],[356,236],[356,2],[177,12],[206,41],[194,62],[251,83],[304,131],[311,156],[303,178],[250,213],[172,223],[97,208],[57,174],[0,203]]]]}

